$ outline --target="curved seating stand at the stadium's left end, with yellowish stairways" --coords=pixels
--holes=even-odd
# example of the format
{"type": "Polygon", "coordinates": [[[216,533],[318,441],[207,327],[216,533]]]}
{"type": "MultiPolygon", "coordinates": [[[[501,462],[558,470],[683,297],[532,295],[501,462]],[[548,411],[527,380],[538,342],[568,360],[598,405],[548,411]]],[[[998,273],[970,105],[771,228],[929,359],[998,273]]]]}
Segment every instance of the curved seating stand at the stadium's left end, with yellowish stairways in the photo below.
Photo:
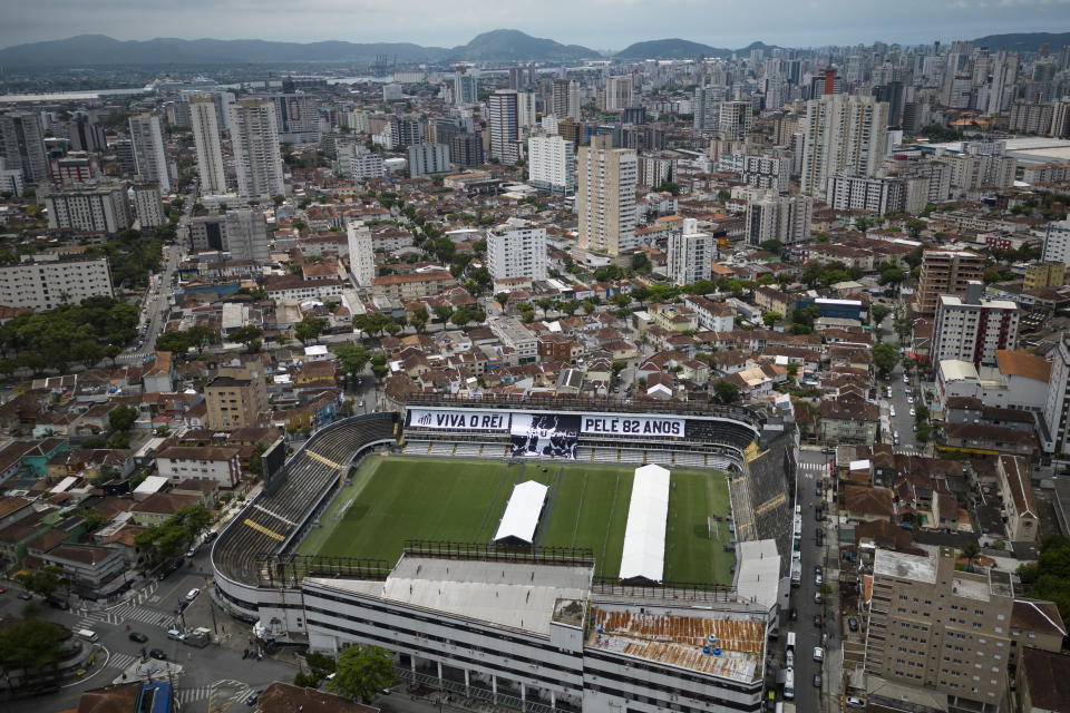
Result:
{"type": "Polygon", "coordinates": [[[261,494],[226,528],[212,550],[213,566],[239,583],[255,584],[256,556],[278,551],[312,515],[312,505],[344,476],[350,460],[370,443],[395,439],[391,413],[337,422],[318,431],[285,466],[285,479],[261,494]]]}

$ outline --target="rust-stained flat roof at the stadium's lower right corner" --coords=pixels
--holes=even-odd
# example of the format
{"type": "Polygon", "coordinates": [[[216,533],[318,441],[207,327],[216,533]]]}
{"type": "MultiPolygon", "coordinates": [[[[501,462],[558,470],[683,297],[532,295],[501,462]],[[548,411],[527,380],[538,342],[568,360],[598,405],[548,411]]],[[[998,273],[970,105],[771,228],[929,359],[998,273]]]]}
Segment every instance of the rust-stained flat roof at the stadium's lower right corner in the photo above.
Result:
{"type": "Polygon", "coordinates": [[[639,607],[600,604],[591,606],[591,616],[594,626],[587,632],[587,647],[745,683],[761,675],[763,622],[716,612],[691,615],[679,607],[671,614],[644,607],[641,614],[639,607]],[[717,636],[720,654],[702,652],[710,634],[717,636]]]}

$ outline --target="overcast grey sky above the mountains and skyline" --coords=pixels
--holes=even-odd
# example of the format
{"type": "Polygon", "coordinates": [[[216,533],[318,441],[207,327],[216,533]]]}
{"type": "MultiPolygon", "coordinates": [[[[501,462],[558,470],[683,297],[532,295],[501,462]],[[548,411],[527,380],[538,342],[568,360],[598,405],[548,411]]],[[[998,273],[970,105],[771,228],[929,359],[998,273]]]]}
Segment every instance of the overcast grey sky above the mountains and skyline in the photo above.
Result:
{"type": "Polygon", "coordinates": [[[453,47],[498,28],[593,49],[671,37],[732,49],[913,45],[1070,31],[1070,0],[0,0],[0,47],[82,33],[453,47]]]}

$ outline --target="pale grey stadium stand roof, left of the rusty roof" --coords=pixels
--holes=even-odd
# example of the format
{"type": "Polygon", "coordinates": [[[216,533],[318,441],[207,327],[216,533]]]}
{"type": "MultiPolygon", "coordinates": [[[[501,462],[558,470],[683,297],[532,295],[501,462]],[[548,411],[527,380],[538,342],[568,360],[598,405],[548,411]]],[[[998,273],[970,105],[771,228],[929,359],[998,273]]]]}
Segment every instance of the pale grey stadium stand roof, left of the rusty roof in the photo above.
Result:
{"type": "Polygon", "coordinates": [[[593,566],[402,556],[386,582],[307,582],[549,636],[558,600],[585,599],[593,574],[593,566]]]}

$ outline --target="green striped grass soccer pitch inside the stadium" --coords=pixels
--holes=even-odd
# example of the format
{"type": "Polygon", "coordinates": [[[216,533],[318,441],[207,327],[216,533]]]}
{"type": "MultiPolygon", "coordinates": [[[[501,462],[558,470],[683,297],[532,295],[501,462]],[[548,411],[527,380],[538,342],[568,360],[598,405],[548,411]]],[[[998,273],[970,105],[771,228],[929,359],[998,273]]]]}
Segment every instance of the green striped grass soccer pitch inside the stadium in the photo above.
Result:
{"type": "MultiPolygon", "coordinates": [[[[722,547],[731,539],[724,475],[669,470],[665,579],[731,584],[735,556],[722,547]]],[[[536,480],[549,487],[537,544],[590,548],[597,574],[615,577],[633,472],[631,466],[575,461],[533,459],[507,465],[504,460],[371,456],[299,553],[393,563],[406,539],[489,543],[513,486],[536,480]]]]}

